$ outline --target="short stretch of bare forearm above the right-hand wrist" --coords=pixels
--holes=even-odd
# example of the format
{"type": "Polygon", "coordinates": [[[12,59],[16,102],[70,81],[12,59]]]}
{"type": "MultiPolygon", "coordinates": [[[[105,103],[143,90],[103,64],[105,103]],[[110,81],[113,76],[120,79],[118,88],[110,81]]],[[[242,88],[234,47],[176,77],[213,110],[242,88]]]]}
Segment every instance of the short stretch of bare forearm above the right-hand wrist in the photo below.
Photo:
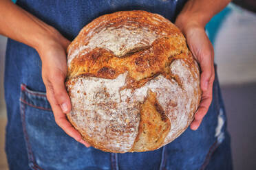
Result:
{"type": "Polygon", "coordinates": [[[231,0],[189,0],[178,15],[175,24],[180,29],[184,29],[185,25],[189,24],[204,27],[229,2],[231,0]]]}

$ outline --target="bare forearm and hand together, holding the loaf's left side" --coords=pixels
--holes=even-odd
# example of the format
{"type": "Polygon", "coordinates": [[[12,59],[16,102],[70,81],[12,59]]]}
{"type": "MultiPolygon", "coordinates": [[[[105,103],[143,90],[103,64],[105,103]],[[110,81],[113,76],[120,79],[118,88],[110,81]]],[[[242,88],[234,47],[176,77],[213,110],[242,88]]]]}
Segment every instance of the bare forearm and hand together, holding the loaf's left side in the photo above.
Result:
{"type": "Polygon", "coordinates": [[[36,49],[42,60],[42,78],[56,123],[76,141],[89,147],[65,116],[70,112],[70,97],[65,89],[66,49],[70,41],[54,27],[43,23],[10,0],[0,1],[0,34],[36,49]]]}

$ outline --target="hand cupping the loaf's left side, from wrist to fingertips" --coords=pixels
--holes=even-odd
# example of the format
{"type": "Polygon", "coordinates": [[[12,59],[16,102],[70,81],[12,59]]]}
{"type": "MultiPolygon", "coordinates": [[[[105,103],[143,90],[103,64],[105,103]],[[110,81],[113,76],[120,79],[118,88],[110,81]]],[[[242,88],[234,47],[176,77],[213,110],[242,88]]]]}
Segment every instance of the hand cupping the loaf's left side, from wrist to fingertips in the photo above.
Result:
{"type": "Polygon", "coordinates": [[[67,74],[65,50],[70,41],[61,36],[56,29],[52,30],[50,38],[42,41],[42,45],[36,50],[42,60],[42,77],[46,87],[46,96],[52,107],[56,124],[76,141],[89,147],[90,145],[83,141],[81,134],[67,121],[65,115],[71,110],[70,97],[65,88],[67,74]]]}

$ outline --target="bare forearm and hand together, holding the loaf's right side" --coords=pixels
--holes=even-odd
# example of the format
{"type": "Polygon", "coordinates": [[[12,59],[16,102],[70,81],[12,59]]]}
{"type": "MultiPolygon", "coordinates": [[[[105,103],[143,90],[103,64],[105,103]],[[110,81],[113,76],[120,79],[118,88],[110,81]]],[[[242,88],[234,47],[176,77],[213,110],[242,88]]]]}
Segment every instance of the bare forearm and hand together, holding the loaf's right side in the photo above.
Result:
{"type": "Polygon", "coordinates": [[[214,51],[204,27],[230,1],[189,0],[175,21],[175,25],[186,36],[189,49],[191,49],[195,59],[198,60],[201,69],[200,87],[202,89],[202,99],[198,111],[195,113],[195,119],[191,123],[192,130],[197,130],[200,126],[213,98],[213,81],[215,78],[214,51]]]}

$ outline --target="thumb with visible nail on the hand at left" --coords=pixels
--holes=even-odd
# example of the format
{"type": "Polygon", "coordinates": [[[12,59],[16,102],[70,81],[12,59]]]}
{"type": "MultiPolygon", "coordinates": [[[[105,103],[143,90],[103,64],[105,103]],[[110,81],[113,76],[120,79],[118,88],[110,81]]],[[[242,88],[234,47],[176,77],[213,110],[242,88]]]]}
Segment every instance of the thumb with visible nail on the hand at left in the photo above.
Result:
{"type": "Polygon", "coordinates": [[[50,84],[54,91],[54,98],[56,99],[56,103],[61,106],[62,112],[70,112],[71,102],[65,88],[65,75],[61,73],[61,71],[55,73],[54,77],[52,77],[50,80],[50,84]]]}

